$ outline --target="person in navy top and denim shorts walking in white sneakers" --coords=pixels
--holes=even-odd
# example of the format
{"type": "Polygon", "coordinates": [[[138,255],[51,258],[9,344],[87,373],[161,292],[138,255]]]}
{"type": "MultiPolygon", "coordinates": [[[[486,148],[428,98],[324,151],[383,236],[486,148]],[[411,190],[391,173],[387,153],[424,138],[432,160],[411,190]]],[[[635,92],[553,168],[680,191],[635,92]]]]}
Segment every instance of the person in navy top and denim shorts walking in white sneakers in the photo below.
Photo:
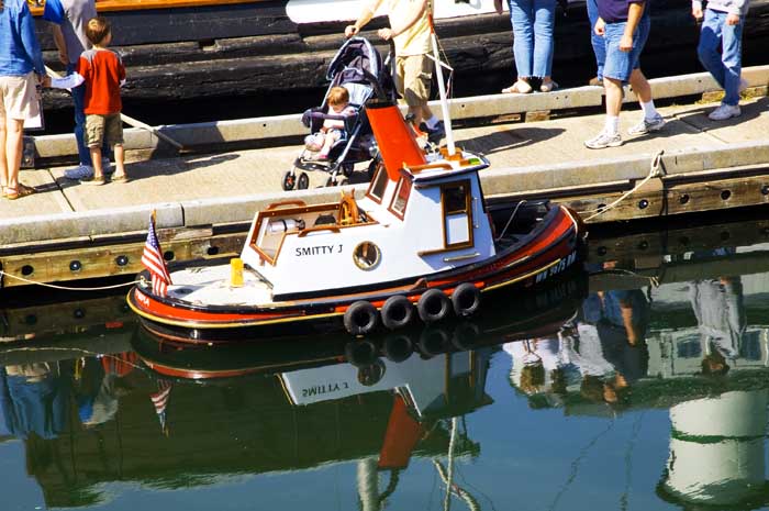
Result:
{"type": "Polygon", "coordinates": [[[605,41],[603,88],[606,95],[606,121],[601,133],[584,141],[588,148],[603,149],[622,145],[620,110],[623,85],[627,82],[633,86],[644,111],[644,119],[627,133],[644,135],[665,126],[665,119],[655,109],[651,87],[640,71],[640,52],[646,44],[650,26],[646,3],[646,0],[598,0],[599,19],[593,30],[605,41]]]}

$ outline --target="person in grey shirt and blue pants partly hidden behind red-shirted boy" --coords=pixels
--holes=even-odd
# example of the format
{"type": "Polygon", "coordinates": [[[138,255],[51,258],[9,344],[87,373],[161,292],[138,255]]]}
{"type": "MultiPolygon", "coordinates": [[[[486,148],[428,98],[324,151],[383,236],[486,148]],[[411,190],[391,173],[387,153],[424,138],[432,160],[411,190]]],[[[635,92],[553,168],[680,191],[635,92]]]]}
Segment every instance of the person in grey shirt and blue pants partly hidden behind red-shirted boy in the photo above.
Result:
{"type": "MultiPolygon", "coordinates": [[[[75,66],[80,59],[80,54],[91,48],[91,43],[86,36],[88,21],[97,16],[94,0],[47,0],[43,9],[43,19],[53,25],[54,42],[58,49],[58,57],[67,68],[67,75],[75,73],[75,66]]],[[[93,176],[93,163],[91,153],[86,146],[83,132],[86,129],[86,85],[73,87],[73,101],[75,103],[75,140],[80,165],[67,169],[64,176],[68,179],[89,179],[93,176]]],[[[102,155],[110,154],[110,146],[104,142],[102,155]]],[[[104,171],[109,174],[109,158],[103,162],[104,171]]]]}

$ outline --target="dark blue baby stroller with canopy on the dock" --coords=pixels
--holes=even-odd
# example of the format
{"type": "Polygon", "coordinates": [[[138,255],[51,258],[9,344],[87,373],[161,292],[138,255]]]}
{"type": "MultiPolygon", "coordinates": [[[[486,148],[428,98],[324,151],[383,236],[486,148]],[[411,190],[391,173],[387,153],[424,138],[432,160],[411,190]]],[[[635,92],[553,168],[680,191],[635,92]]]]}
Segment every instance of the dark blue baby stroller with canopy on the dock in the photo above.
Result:
{"type": "Polygon", "coordinates": [[[368,162],[369,178],[377,166],[379,151],[374,138],[371,126],[366,116],[366,101],[375,91],[381,90],[386,97],[394,99],[394,86],[388,68],[391,58],[382,63],[381,55],[365,37],[352,37],[342,45],[328,66],[326,79],[331,81],[323,104],[312,108],[302,115],[302,123],[310,129],[310,134],[317,133],[323,122],[330,120],[344,121],[342,136],[328,152],[327,159],[320,160],[315,153],[305,147],[293,162],[293,168],[283,175],[283,190],[294,187],[303,190],[310,185],[307,171],[321,170],[328,173],[326,186],[344,185],[353,174],[355,164],[368,162]],[[349,105],[355,114],[348,116],[328,115],[328,92],[333,87],[341,86],[349,92],[349,105]],[[301,170],[297,175],[297,170],[301,170]],[[342,175],[343,177],[339,177],[342,175]]]}

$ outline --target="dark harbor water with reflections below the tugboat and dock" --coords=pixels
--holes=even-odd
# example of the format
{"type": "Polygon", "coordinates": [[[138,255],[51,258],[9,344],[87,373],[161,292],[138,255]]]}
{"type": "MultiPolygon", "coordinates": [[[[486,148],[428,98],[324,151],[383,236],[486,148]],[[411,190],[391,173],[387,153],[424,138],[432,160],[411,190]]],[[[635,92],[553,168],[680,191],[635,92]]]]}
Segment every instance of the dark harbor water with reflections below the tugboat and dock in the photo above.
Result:
{"type": "Polygon", "coordinates": [[[768,225],[598,233],[590,276],[354,345],[15,303],[2,509],[768,509],[768,225]]]}

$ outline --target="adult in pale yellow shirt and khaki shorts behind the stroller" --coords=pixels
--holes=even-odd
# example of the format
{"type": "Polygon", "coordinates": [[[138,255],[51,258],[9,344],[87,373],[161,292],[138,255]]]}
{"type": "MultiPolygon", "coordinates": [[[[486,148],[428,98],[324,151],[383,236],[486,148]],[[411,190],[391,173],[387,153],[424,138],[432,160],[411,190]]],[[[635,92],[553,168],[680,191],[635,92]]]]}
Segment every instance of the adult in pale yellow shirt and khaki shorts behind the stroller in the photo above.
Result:
{"type": "Polygon", "coordinates": [[[438,143],[445,135],[443,122],[427,105],[433,79],[431,5],[428,0],[370,0],[353,25],[345,27],[345,36],[352,37],[374,18],[384,4],[390,20],[389,29],[378,34],[395,43],[395,87],[409,105],[414,125],[427,133],[427,138],[438,143]]]}

